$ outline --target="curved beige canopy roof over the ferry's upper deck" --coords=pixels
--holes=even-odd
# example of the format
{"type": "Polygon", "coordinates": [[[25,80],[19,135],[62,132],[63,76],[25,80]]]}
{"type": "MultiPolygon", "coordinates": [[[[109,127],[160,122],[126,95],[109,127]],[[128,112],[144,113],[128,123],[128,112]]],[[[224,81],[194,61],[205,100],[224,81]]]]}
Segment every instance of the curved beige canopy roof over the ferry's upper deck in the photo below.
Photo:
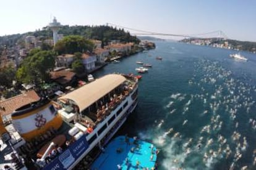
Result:
{"type": "Polygon", "coordinates": [[[79,107],[80,111],[82,111],[97,100],[101,99],[104,95],[111,92],[114,88],[124,83],[124,81],[126,81],[124,76],[106,75],[102,78],[96,79],[92,83],[76,89],[75,91],[63,95],[59,99],[73,100],[79,107]]]}

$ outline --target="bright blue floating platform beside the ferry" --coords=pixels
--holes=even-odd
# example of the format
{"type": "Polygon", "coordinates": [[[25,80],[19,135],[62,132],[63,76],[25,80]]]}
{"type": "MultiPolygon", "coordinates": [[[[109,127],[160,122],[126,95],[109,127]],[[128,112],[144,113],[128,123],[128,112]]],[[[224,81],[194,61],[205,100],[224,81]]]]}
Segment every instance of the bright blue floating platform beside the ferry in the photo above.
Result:
{"type": "Polygon", "coordinates": [[[119,136],[111,140],[100,156],[93,162],[91,169],[155,169],[156,147],[142,140],[119,136]],[[127,140],[129,139],[129,144],[127,140]],[[134,149],[134,152],[132,150],[134,149]],[[138,162],[139,161],[139,162],[138,162]],[[139,165],[138,165],[139,163],[139,165]]]}

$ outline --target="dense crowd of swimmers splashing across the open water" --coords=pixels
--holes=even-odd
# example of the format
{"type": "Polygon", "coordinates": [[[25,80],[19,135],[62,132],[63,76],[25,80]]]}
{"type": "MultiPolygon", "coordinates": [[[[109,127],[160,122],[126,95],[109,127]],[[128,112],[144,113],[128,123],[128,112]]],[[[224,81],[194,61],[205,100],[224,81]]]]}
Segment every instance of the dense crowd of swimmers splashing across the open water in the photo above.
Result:
{"type": "MultiPolygon", "coordinates": [[[[173,160],[172,165],[176,168],[186,166],[194,166],[195,168],[197,166],[192,163],[193,160],[190,160],[189,163],[189,160],[185,159],[187,156],[195,154],[197,158],[202,158],[204,165],[201,166],[204,168],[210,168],[213,163],[223,159],[228,161],[225,166],[228,169],[256,168],[256,148],[247,150],[249,147],[248,138],[252,140],[250,132],[255,132],[256,129],[255,116],[251,111],[254,108],[255,99],[252,96],[256,92],[256,87],[244,83],[240,79],[234,79],[233,73],[221,67],[217,62],[202,60],[195,62],[194,66],[195,73],[193,78],[189,80],[189,86],[198,89],[200,92],[190,95],[173,94],[171,96],[172,101],[166,108],[173,109],[172,105],[175,102],[181,102],[181,100],[190,97],[189,102],[184,105],[180,117],[187,117],[181,123],[184,129],[189,127],[187,124],[190,123],[189,117],[186,116],[190,110],[190,103],[194,100],[200,100],[205,110],[198,113],[198,116],[207,119],[211,115],[210,123],[200,127],[200,131],[195,134],[198,137],[191,137],[185,139],[185,141],[184,139],[181,140],[184,137],[181,132],[174,132],[173,127],[164,132],[161,136],[162,139],[169,135],[173,136],[172,139],[177,143],[182,141],[183,153],[181,154],[185,156],[178,156],[179,154],[175,153],[170,157],[173,160]],[[247,156],[249,153],[252,155],[247,156]],[[244,157],[244,155],[246,156],[244,157]],[[250,158],[252,158],[252,164],[244,164],[245,162],[248,163],[245,160],[250,158]],[[240,161],[242,159],[244,160],[240,161]],[[185,161],[188,161],[188,163],[184,163],[185,161]]],[[[177,110],[174,109],[170,111],[171,115],[176,112],[177,110]]],[[[161,127],[163,123],[162,119],[158,127],[161,127]]]]}

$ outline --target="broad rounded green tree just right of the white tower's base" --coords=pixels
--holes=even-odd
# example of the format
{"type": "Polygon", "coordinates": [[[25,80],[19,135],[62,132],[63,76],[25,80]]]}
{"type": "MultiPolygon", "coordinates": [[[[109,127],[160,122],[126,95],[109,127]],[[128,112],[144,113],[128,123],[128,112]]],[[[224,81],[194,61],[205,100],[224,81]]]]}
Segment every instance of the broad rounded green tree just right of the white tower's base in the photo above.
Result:
{"type": "Polygon", "coordinates": [[[65,36],[59,40],[54,50],[59,54],[74,54],[75,52],[93,51],[94,44],[92,41],[83,38],[82,36],[72,35],[65,36]]]}

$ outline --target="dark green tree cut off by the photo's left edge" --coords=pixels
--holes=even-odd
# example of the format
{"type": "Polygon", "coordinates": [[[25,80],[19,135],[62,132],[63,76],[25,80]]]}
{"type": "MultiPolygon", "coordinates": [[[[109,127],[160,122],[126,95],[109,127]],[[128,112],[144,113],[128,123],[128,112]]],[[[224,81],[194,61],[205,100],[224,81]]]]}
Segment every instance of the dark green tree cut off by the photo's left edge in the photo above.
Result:
{"type": "Polygon", "coordinates": [[[15,70],[9,65],[0,71],[0,85],[6,88],[12,87],[12,81],[15,80],[15,70]]]}

